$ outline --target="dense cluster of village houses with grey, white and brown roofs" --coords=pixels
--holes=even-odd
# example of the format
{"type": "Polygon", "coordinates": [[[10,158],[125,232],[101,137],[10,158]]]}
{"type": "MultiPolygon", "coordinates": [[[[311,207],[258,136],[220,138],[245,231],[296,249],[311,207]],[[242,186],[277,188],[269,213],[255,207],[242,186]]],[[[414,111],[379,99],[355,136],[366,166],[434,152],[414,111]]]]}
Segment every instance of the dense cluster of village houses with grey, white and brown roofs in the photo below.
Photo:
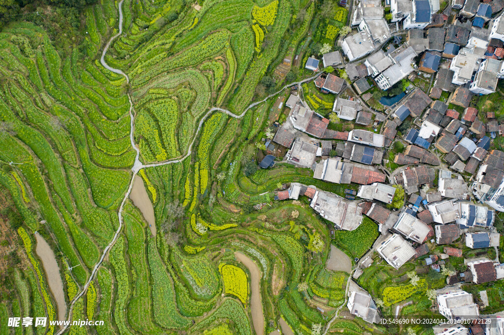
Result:
{"type": "MultiPolygon", "coordinates": [[[[438,0],[390,0],[388,5],[389,21],[382,2],[357,1],[354,29],[339,40],[340,48],[306,61],[306,69],[320,73],[314,79],[320,93],[335,95],[330,113],[345,127],[333,130],[329,116],[310,109],[306,92],[294,88],[285,102],[287,118],[276,124],[272,140],[265,139],[268,155],[262,167],[283,160],[311,169],[314,179],[344,185],[344,193],[290,183],[275,200],[306,196],[331,223],[331,232],[355,230],[364,215],[369,217],[381,233],[371,252],[395,269],[428,255],[427,241],[448,245],[462,237],[471,249],[497,247],[494,223],[496,213],[504,211],[504,152],[494,143],[504,124],[494,112],[479,111],[476,102],[495,93],[504,76],[504,2],[452,0],[445,9],[438,0]],[[417,77],[430,85],[415,86],[417,77]],[[372,90],[389,90],[405,80],[404,94],[383,111],[368,103],[372,90]],[[401,127],[404,122],[409,126],[401,127]],[[396,143],[404,150],[392,153],[396,143]],[[397,197],[404,202],[394,208],[397,197]]],[[[439,272],[444,259],[461,256],[462,249],[446,246],[444,254],[427,257],[425,264],[439,272]]],[[[369,254],[356,261],[355,279],[372,263],[369,254]]],[[[498,257],[465,264],[467,271],[450,276],[449,286],[437,294],[438,311],[447,318],[479,315],[472,294],[454,284],[504,278],[498,257]]],[[[379,322],[367,292],[354,284],[348,298],[352,314],[379,322]]],[[[502,330],[503,323],[498,325],[502,330]]],[[[440,334],[468,333],[462,325],[438,328],[440,334]]]]}

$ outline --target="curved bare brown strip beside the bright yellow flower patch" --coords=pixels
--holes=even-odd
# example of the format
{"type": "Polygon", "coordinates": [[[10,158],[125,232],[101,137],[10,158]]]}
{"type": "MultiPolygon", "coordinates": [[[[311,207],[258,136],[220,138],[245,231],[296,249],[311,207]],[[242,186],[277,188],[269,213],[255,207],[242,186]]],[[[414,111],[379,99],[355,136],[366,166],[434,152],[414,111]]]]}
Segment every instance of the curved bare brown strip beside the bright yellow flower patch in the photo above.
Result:
{"type": "Polygon", "coordinates": [[[264,314],[263,304],[261,303],[261,271],[253,260],[249,259],[242,253],[234,253],[236,259],[243,263],[250,271],[250,309],[252,312],[252,323],[258,335],[264,335],[264,314]]]}

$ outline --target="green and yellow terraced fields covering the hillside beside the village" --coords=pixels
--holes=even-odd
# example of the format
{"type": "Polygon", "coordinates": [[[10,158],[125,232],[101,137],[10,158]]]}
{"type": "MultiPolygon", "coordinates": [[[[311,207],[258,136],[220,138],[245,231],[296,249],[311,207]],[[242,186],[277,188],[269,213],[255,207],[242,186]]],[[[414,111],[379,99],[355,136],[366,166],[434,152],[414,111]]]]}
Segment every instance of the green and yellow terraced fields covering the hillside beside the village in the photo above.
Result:
{"type": "MultiPolygon", "coordinates": [[[[0,32],[0,193],[21,218],[14,227],[11,214],[0,213],[16,246],[11,261],[19,261],[3,277],[11,284],[2,290],[2,321],[58,313],[104,321],[26,327],[49,334],[286,326],[309,334],[344,302],[347,275],[314,268],[329,256],[326,222],[304,202],[272,201],[278,184],[335,185],[282,164],[247,176],[243,167],[257,158],[272,104],[298,84],[278,81],[266,94],[260,80],[309,42],[318,5],[200,5],[103,0],[82,10],[79,38],[58,36],[66,48],[28,19],[0,32]],[[145,185],[155,229],[129,198],[134,181],[145,185]],[[54,252],[64,297],[48,285],[35,232],[54,252]],[[322,253],[308,250],[315,232],[322,253]],[[222,265],[239,279],[224,276],[222,265]],[[309,289],[299,292],[304,282],[309,289]],[[316,300],[329,308],[317,309],[316,300]]],[[[297,71],[299,83],[313,79],[297,71]]]]}

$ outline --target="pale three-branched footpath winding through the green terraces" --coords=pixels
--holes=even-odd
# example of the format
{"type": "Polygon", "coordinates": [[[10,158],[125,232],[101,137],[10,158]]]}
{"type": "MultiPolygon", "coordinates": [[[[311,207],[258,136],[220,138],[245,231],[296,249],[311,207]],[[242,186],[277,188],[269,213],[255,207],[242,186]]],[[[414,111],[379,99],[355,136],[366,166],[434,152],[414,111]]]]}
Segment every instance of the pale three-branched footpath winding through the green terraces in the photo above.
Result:
{"type": "MultiPolygon", "coordinates": [[[[122,3],[124,2],[124,0],[121,0],[118,4],[118,11],[119,11],[119,31],[117,34],[115,34],[114,36],[112,36],[110,38],[110,40],[107,42],[107,44],[105,45],[105,47],[103,48],[103,52],[101,54],[101,58],[100,58],[100,62],[101,64],[103,65],[103,67],[105,67],[107,70],[110,70],[114,73],[117,73],[117,74],[120,74],[122,76],[124,76],[124,78],[126,79],[126,82],[130,83],[130,77],[128,76],[128,74],[124,73],[122,70],[120,69],[117,69],[117,68],[113,68],[111,66],[109,66],[106,61],[105,61],[105,55],[108,51],[108,48],[110,47],[110,44],[112,43],[112,41],[114,39],[116,39],[117,37],[119,37],[121,34],[122,34],[122,21],[123,21],[123,15],[122,15],[122,3]]],[[[205,122],[205,120],[207,119],[207,117],[209,115],[211,115],[213,112],[215,111],[219,111],[219,112],[222,112],[222,113],[225,113],[233,118],[236,118],[236,119],[241,119],[246,112],[248,112],[248,110],[250,110],[251,108],[254,108],[256,107],[257,105],[260,105],[264,102],[266,102],[268,99],[280,94],[282,91],[284,91],[285,89],[289,88],[289,87],[292,87],[292,86],[300,86],[301,83],[303,82],[306,82],[306,81],[310,81],[310,80],[313,80],[315,78],[317,78],[319,75],[321,75],[323,72],[320,72],[320,73],[317,73],[316,75],[313,75],[309,78],[306,78],[306,79],[303,79],[303,80],[300,80],[300,81],[296,81],[296,82],[293,82],[293,83],[290,83],[289,85],[285,85],[282,89],[280,89],[278,92],[276,93],[273,93],[273,94],[270,94],[269,96],[267,96],[266,98],[264,98],[263,100],[261,101],[257,101],[255,103],[251,103],[250,105],[248,105],[248,107],[239,115],[236,115],[234,113],[232,113],[231,111],[228,111],[226,109],[223,109],[223,108],[220,108],[220,107],[212,107],[204,116],[203,118],[200,120],[200,123],[198,125],[198,129],[196,130],[195,134],[194,134],[194,138],[193,140],[191,141],[191,144],[190,146],[188,147],[187,149],[187,153],[182,156],[182,157],[179,157],[179,158],[174,158],[174,159],[168,159],[168,160],[165,160],[165,161],[161,161],[161,162],[155,162],[155,163],[148,163],[148,164],[143,164],[141,161],[140,161],[140,149],[137,147],[137,145],[135,144],[135,140],[134,140],[134,133],[135,133],[135,123],[134,123],[134,120],[135,120],[135,116],[133,114],[133,101],[131,99],[131,95],[130,93],[127,93],[128,95],[128,100],[130,102],[130,111],[129,111],[129,114],[130,114],[130,126],[131,126],[131,131],[130,131],[130,141],[131,141],[131,145],[133,147],[133,149],[135,149],[135,151],[137,152],[137,155],[135,156],[135,163],[133,164],[133,167],[132,167],[132,171],[133,171],[133,176],[131,178],[131,181],[130,181],[130,186],[128,187],[128,191],[126,191],[126,193],[124,194],[124,198],[122,199],[122,202],[119,206],[119,210],[117,212],[117,217],[119,219],[119,226],[117,227],[117,230],[115,231],[115,234],[114,234],[114,237],[112,238],[112,240],[110,241],[110,243],[107,244],[107,246],[103,249],[103,253],[100,257],[100,260],[96,263],[96,265],[94,266],[93,268],[93,271],[91,272],[90,276],[89,276],[89,279],[88,281],[86,282],[86,284],[84,285],[84,287],[82,288],[81,292],[79,292],[75,297],[74,299],[72,300],[72,302],[70,303],[70,306],[68,308],[68,317],[67,317],[67,320],[68,321],[71,321],[72,320],[72,312],[74,310],[74,305],[75,303],[87,292],[88,290],[88,287],[91,283],[91,281],[94,279],[96,273],[98,272],[98,270],[100,269],[101,267],[101,264],[103,263],[103,260],[105,259],[105,257],[107,256],[107,253],[108,251],[110,250],[110,248],[114,245],[115,241],[117,240],[117,237],[119,236],[119,232],[121,231],[122,229],[122,210],[124,209],[124,205],[126,203],[126,201],[128,200],[129,196],[130,196],[130,193],[131,193],[131,190],[133,188],[133,183],[135,181],[135,177],[137,176],[138,172],[142,169],[145,169],[147,167],[156,167],[156,166],[161,166],[161,165],[167,165],[167,164],[173,164],[173,163],[178,163],[178,162],[181,162],[183,161],[185,158],[187,158],[188,156],[191,155],[192,153],[192,148],[193,148],[193,145],[196,141],[196,139],[198,138],[198,134],[201,130],[201,128],[203,127],[203,124],[205,122]]],[[[298,91],[299,92],[299,91],[298,91]]],[[[60,335],[62,333],[64,333],[67,329],[69,328],[69,325],[65,325],[63,326],[56,334],[57,335],[60,335]]]]}

